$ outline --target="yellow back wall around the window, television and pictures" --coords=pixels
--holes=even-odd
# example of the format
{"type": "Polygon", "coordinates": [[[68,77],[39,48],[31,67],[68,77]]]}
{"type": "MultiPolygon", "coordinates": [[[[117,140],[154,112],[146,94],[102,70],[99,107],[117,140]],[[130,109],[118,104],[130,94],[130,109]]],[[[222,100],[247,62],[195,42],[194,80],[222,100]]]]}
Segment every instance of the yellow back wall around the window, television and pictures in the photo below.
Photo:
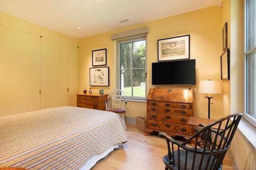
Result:
{"type": "MultiPolygon", "coordinates": [[[[161,20],[151,21],[102,33],[78,40],[78,91],[82,93],[84,87],[90,87],[89,68],[92,68],[92,51],[107,49],[107,66],[110,67],[110,86],[103,87],[105,92],[116,88],[115,86],[115,41],[110,39],[111,34],[149,27],[147,35],[147,84],[150,88],[192,88],[195,92],[194,115],[196,117],[208,117],[208,100],[206,94],[198,93],[199,80],[220,80],[220,55],[222,54],[222,21],[220,20],[222,9],[218,6],[205,8],[161,20]],[[152,86],[151,63],[157,62],[157,40],[182,35],[190,35],[190,59],[196,59],[196,85],[194,86],[152,86]]],[[[98,92],[98,86],[91,87],[98,92]]],[[[211,118],[222,117],[222,94],[214,94],[211,106],[211,118]]],[[[146,117],[145,102],[128,102],[126,117],[146,117]]]]}

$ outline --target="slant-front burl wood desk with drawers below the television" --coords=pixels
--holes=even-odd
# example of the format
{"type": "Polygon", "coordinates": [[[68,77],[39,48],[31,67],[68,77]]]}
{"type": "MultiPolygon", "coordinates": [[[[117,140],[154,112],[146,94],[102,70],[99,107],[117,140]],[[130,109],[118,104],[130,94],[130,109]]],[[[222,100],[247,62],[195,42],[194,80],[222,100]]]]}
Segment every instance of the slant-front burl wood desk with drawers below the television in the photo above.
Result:
{"type": "Polygon", "coordinates": [[[194,90],[151,88],[147,98],[147,127],[145,135],[152,131],[188,139],[195,133],[188,125],[193,116],[194,90]]]}

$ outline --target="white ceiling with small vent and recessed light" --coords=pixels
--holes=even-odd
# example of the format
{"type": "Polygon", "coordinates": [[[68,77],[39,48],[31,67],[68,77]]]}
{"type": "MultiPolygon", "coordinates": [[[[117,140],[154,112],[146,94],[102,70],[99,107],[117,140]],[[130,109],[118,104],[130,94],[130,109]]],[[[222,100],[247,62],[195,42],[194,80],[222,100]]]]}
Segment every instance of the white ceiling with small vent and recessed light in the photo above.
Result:
{"type": "Polygon", "coordinates": [[[222,0],[0,0],[0,11],[71,37],[82,38],[218,6],[221,2],[222,0]],[[119,22],[126,19],[129,21],[119,22]]]}

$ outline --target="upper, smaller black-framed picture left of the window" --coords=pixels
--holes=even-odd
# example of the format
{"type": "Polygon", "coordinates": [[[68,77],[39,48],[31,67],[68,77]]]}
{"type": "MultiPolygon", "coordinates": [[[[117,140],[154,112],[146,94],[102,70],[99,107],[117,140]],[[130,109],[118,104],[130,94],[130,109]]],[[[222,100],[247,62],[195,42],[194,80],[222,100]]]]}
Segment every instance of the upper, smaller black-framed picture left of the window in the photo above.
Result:
{"type": "Polygon", "coordinates": [[[107,65],[107,49],[92,51],[92,66],[107,65]]]}

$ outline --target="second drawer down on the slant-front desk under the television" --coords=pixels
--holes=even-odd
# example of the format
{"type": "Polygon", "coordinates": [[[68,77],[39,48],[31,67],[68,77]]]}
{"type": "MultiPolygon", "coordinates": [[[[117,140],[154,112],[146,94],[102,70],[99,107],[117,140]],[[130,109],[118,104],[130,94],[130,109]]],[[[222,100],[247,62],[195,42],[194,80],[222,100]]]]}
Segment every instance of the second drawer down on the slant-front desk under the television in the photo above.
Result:
{"type": "Polygon", "coordinates": [[[180,116],[187,116],[187,117],[192,116],[192,110],[175,109],[171,107],[148,106],[147,113],[148,112],[165,113],[165,114],[180,115],[180,116]]]}

